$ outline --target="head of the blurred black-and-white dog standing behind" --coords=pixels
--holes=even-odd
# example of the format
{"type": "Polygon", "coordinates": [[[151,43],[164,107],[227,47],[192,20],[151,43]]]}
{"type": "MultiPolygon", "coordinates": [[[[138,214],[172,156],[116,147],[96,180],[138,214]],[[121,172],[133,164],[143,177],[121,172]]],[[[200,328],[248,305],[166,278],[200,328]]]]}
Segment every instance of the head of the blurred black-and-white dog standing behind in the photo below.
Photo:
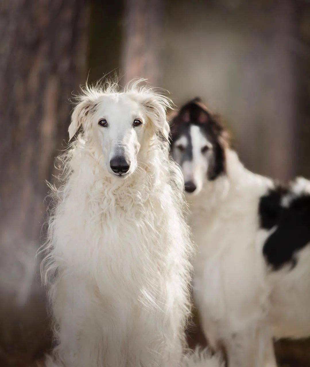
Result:
{"type": "Polygon", "coordinates": [[[224,132],[199,98],[184,105],[172,120],[172,157],[181,167],[187,193],[198,194],[205,180],[225,172],[224,132]]]}

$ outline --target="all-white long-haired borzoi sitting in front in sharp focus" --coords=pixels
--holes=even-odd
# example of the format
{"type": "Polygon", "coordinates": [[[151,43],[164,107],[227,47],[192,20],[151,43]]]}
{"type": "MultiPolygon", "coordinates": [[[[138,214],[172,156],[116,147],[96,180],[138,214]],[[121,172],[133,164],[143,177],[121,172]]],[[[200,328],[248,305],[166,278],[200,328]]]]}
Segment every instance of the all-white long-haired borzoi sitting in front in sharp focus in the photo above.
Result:
{"type": "Polygon", "coordinates": [[[183,178],[168,158],[169,100],[131,83],[86,87],[59,157],[43,279],[55,320],[48,366],[219,366],[182,357],[192,252],[183,178]],[[200,364],[199,364],[200,363],[200,364]]]}

